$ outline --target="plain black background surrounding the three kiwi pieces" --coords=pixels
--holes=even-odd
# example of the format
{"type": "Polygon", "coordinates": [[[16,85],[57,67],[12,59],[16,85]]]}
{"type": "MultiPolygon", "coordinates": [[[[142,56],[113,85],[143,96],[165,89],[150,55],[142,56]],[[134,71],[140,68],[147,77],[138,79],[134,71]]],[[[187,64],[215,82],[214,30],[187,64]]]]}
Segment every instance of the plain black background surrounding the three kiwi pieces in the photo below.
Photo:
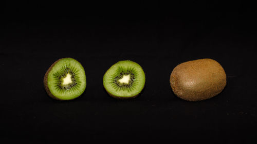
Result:
{"type": "MultiPolygon", "coordinates": [[[[241,1],[1,2],[1,139],[26,142],[165,140],[256,142],[256,8],[241,1]],[[84,66],[87,87],[70,101],[51,99],[43,77],[59,58],[84,66]],[[212,58],[227,74],[208,100],[179,99],[173,68],[212,58]],[[106,70],[130,59],[145,88],[117,100],[102,86],[106,70]]],[[[106,142],[107,142],[106,141],[106,142]]]]}

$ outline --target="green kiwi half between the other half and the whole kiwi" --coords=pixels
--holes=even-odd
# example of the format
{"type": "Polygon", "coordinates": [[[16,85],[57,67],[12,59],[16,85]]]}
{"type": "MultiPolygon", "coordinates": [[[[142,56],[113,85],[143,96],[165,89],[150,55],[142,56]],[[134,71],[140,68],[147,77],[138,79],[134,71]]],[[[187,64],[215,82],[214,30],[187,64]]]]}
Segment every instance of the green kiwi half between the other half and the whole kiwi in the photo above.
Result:
{"type": "Polygon", "coordinates": [[[137,63],[123,60],[109,68],[103,76],[107,93],[118,99],[135,98],[143,90],[145,74],[137,63]]]}

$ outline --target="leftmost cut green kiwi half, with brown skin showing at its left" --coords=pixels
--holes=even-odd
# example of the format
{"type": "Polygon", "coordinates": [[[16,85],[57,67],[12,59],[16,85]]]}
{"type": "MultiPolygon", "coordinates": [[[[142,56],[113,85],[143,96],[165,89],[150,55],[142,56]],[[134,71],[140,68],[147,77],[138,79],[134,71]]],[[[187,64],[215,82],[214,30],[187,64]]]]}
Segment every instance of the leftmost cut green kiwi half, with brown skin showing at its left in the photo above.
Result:
{"type": "Polygon", "coordinates": [[[85,91],[85,70],[74,58],[58,59],[47,70],[44,87],[47,94],[54,99],[75,99],[85,91]]]}

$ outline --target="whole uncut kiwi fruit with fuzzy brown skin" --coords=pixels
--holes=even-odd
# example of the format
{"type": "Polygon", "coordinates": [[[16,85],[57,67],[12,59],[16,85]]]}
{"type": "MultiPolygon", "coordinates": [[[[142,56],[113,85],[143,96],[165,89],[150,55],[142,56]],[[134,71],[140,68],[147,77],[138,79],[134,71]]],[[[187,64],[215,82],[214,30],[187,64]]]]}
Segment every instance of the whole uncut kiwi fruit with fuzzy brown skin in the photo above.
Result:
{"type": "Polygon", "coordinates": [[[199,101],[223,91],[227,83],[223,67],[210,58],[177,65],[170,76],[172,91],[179,98],[199,101]]]}

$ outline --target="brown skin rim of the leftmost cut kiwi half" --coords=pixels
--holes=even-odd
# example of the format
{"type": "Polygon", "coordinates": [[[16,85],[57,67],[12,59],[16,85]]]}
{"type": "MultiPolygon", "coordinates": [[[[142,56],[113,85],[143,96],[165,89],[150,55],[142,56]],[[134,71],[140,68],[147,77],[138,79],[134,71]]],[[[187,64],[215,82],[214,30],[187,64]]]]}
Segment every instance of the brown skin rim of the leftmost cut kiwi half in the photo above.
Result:
{"type": "MultiPolygon", "coordinates": [[[[65,58],[70,58],[70,57],[65,57],[65,58]]],[[[46,93],[47,93],[51,98],[56,99],[56,100],[72,100],[72,99],[78,98],[78,97],[80,97],[80,96],[75,97],[75,98],[72,98],[72,99],[60,99],[60,98],[58,98],[58,97],[52,95],[52,93],[51,93],[50,90],[49,90],[49,87],[48,87],[48,85],[47,85],[48,74],[49,74],[49,72],[52,70],[52,67],[53,67],[54,65],[56,65],[56,63],[58,63],[58,61],[60,61],[61,59],[64,59],[64,58],[60,58],[60,59],[56,60],[56,61],[49,67],[49,69],[48,69],[48,70],[46,71],[46,73],[45,73],[45,76],[44,76],[44,87],[45,87],[46,93]]],[[[72,58],[72,59],[74,59],[74,58],[72,58]]],[[[78,60],[77,60],[77,61],[78,61],[78,60]]],[[[78,63],[79,63],[79,61],[78,61],[78,63]]]]}

